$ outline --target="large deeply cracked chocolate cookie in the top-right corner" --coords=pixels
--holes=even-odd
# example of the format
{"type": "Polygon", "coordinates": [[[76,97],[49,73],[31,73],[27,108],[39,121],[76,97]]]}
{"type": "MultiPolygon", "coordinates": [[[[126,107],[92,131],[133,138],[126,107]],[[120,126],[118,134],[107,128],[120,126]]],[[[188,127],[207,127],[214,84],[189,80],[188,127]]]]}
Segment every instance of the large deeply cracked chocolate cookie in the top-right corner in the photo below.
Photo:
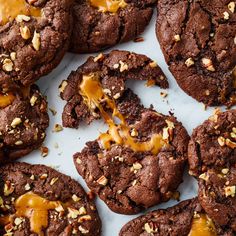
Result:
{"type": "Polygon", "coordinates": [[[179,86],[207,105],[236,104],[232,0],[159,0],[156,33],[179,86]]]}

